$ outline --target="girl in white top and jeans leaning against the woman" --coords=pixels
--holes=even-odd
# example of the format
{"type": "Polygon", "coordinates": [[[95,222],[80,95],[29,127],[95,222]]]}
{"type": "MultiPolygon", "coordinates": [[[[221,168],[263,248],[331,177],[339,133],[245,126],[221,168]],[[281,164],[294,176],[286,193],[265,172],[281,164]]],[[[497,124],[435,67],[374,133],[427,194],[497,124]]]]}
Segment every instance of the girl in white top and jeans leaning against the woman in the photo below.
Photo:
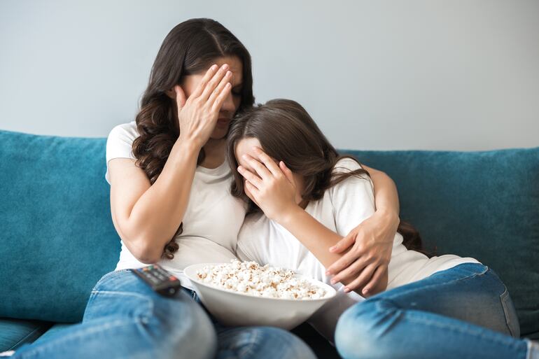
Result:
{"type": "Polygon", "coordinates": [[[409,225],[394,234],[386,283],[366,300],[346,290],[353,270],[330,278],[325,267],[341,255],[329,248],[374,212],[372,181],[300,104],[277,99],[244,112],[230,127],[227,157],[232,194],[248,205],[238,257],[335,286],[310,322],[330,340],[335,334],[343,358],[539,358],[538,344],[518,339],[496,273],[474,258],[424,255],[409,225]]]}

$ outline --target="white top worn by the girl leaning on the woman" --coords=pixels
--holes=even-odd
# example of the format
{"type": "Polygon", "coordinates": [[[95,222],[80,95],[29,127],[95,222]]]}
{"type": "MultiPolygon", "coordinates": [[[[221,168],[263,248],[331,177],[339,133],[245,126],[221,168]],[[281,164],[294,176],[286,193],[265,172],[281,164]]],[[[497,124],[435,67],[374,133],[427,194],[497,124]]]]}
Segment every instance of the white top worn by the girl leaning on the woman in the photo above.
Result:
{"type": "MultiPolygon", "coordinates": [[[[337,162],[334,171],[352,171],[360,165],[351,159],[337,162]]],[[[320,223],[341,236],[374,213],[374,191],[370,178],[351,176],[325,191],[323,198],[311,201],[305,209],[320,223]]],[[[237,256],[241,260],[255,260],[261,265],[293,269],[299,274],[323,281],[337,290],[337,296],[327,302],[309,319],[309,323],[332,342],[335,325],[344,310],[363,297],[355,292],[344,293],[341,283],[331,285],[331,277],[325,276],[325,268],[300,241],[288,230],[269,220],[263,214],[248,216],[239,232],[237,256]]],[[[413,281],[424,279],[444,269],[465,262],[477,262],[473,258],[442,255],[428,258],[416,251],[409,251],[402,244],[402,235],[395,234],[393,252],[388,265],[388,290],[413,281]]],[[[477,262],[478,263],[478,262],[477,262]]]]}

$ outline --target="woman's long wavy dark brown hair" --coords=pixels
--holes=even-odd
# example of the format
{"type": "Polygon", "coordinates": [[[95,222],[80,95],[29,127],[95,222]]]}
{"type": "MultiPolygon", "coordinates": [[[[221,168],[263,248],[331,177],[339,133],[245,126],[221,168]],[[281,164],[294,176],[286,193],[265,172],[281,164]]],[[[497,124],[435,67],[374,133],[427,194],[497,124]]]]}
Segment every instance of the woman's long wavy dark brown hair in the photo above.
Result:
{"type": "MultiPolygon", "coordinates": [[[[253,76],[251,55],[244,45],[222,24],[211,19],[191,19],[172,29],[153,62],[148,87],[141,99],[135,121],[139,137],[132,150],[137,166],[143,169],[153,184],[158,179],[172,146],[180,136],[176,101],[167,95],[183,76],[207,71],[219,57],[234,56],[241,60],[243,85],[238,112],[253,106],[253,76]]],[[[204,160],[200,151],[197,164],[204,160]]],[[[181,234],[183,223],[165,245],[163,254],[174,258],[178,251],[175,237],[181,234]]]]}

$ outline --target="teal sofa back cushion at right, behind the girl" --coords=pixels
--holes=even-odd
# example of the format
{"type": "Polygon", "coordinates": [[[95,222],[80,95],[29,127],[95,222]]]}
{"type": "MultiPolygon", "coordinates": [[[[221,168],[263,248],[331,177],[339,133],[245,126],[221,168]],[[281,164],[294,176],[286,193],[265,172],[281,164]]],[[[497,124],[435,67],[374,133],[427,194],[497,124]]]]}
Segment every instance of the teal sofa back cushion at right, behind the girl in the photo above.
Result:
{"type": "Polygon", "coordinates": [[[476,258],[505,283],[521,335],[539,338],[539,148],[342,151],[397,184],[426,249],[476,258]]]}

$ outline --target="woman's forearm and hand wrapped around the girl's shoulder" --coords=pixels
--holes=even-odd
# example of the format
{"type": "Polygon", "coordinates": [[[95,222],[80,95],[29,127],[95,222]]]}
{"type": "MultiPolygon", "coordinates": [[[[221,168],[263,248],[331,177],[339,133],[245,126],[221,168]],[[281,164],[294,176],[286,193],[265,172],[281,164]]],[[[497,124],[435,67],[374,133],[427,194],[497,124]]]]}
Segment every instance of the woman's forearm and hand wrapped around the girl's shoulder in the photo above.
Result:
{"type": "MultiPolygon", "coordinates": [[[[374,184],[376,212],[330,248],[333,253],[344,255],[328,267],[326,274],[335,274],[336,281],[360,274],[370,279],[363,292],[366,294],[369,288],[379,287],[377,271],[387,270],[400,219],[398,192],[393,180],[382,171],[361,166],[369,172],[374,184]]],[[[356,289],[354,283],[350,287],[356,289]]]]}

